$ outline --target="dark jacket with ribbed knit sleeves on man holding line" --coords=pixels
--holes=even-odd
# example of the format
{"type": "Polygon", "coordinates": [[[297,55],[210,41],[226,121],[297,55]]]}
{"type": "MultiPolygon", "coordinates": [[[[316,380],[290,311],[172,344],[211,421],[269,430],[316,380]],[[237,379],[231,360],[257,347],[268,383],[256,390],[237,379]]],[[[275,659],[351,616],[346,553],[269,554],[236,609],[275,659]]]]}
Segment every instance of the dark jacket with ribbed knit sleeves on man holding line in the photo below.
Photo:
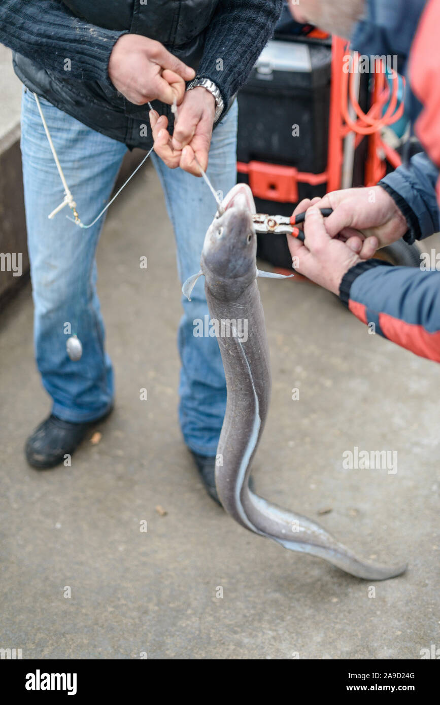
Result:
{"type": "MultiPolygon", "coordinates": [[[[30,90],[94,130],[148,149],[147,106],[130,103],[109,79],[118,37],[157,39],[214,81],[228,109],[281,6],[282,0],[2,0],[0,41],[14,49],[15,71],[30,90]]],[[[154,107],[172,127],[169,106],[154,107]]]]}

